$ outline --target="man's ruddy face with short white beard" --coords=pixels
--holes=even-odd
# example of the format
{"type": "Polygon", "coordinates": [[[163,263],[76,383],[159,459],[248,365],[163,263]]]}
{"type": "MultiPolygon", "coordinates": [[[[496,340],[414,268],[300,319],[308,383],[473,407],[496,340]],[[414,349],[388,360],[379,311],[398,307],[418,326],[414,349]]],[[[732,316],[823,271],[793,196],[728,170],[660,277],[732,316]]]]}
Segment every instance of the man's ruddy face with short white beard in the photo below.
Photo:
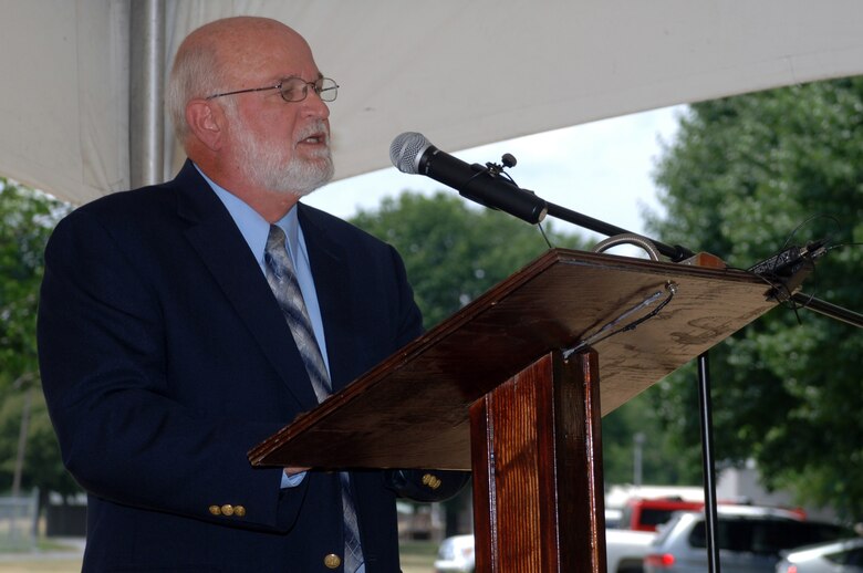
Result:
{"type": "MultiPolygon", "coordinates": [[[[311,51],[301,39],[274,32],[257,42],[261,45],[252,51],[254,63],[239,64],[245,66],[239,67],[243,79],[231,88],[275,85],[289,76],[308,82],[319,77],[311,51]]],[[[247,50],[243,53],[248,54],[247,50]]],[[[230,156],[248,183],[303,196],[332,178],[330,110],[311,87],[301,102],[285,102],[278,90],[235,97],[225,106],[230,156]]]]}

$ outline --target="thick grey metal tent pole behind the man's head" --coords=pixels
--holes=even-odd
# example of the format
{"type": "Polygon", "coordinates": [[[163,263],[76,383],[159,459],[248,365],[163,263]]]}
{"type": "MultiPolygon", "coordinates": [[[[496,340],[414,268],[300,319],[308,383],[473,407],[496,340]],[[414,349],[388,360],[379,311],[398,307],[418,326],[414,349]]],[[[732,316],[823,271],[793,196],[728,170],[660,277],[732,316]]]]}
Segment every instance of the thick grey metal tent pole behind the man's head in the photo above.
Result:
{"type": "Polygon", "coordinates": [[[129,180],[160,183],[165,163],[165,0],[131,2],[129,180]]]}

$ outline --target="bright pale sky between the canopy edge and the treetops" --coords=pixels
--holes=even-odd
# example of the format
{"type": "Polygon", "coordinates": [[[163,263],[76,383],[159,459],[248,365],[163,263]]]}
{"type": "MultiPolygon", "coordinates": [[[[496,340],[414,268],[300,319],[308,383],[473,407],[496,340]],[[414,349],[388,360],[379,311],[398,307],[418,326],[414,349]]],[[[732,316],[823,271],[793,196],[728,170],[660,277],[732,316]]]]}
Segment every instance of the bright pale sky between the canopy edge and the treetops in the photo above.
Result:
{"type": "MultiPolygon", "coordinates": [[[[582,215],[644,232],[642,209],[659,210],[652,173],[662,150],[661,142],[673,140],[683,111],[666,107],[462,152],[443,150],[464,162],[480,164],[500,163],[505,153],[512,154],[518,165],[509,173],[519,187],[582,215]]],[[[361,209],[375,210],[384,197],[398,196],[406,189],[426,194],[447,189],[458,196],[434,179],[391,167],[332,183],[304,201],[349,218],[361,209]]],[[[563,221],[557,221],[554,227],[588,233],[563,221]]]]}

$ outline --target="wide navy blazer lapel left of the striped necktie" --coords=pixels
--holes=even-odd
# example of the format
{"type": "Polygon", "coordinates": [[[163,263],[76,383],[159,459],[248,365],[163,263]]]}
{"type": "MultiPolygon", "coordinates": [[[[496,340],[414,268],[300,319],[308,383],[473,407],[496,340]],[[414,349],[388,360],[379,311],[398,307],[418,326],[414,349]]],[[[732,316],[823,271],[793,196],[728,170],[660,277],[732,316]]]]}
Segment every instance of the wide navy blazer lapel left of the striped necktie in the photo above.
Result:
{"type": "Polygon", "coordinates": [[[174,183],[179,196],[178,213],[191,222],[186,237],[193,248],[300,403],[301,409],[312,409],[318,399],[300,353],[242,233],[190,162],[186,163],[174,183]]]}

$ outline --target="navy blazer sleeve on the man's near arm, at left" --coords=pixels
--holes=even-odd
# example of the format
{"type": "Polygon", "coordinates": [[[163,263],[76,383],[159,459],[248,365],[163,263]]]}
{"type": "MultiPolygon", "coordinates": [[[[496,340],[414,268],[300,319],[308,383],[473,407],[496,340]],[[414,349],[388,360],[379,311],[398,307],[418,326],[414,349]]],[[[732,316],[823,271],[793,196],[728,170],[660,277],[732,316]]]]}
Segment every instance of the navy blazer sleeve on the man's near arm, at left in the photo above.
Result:
{"type": "Polygon", "coordinates": [[[231,525],[289,529],[305,486],[282,491],[281,469],[246,458],[281,424],[207,416],[176,398],[165,368],[173,317],[131,264],[134,253],[81,211],[49,242],[38,316],[64,463],[90,493],[116,503],[222,523],[222,508],[239,507],[231,525]]]}

